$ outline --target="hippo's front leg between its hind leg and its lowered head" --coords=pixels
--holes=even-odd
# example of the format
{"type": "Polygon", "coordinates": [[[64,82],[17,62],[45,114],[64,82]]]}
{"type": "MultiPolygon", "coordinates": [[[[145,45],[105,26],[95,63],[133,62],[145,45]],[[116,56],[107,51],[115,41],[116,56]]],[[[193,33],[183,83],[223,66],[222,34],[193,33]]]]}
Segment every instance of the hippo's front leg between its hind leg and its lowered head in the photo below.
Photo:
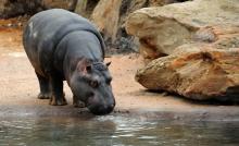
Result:
{"type": "Polygon", "coordinates": [[[52,96],[50,98],[50,105],[64,106],[67,105],[65,94],[63,93],[63,81],[56,74],[50,75],[50,83],[52,87],[52,96]]]}

